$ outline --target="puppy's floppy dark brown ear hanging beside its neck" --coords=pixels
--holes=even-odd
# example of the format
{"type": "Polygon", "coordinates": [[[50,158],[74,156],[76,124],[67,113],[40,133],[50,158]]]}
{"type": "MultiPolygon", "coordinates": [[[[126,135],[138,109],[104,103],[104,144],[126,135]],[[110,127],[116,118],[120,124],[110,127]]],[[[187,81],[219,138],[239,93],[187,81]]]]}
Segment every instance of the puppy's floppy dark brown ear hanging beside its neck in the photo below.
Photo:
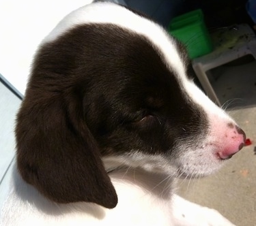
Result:
{"type": "Polygon", "coordinates": [[[17,116],[21,176],[52,201],[114,208],[117,195],[85,123],[83,103],[72,95],[46,96],[28,88],[17,116]]]}

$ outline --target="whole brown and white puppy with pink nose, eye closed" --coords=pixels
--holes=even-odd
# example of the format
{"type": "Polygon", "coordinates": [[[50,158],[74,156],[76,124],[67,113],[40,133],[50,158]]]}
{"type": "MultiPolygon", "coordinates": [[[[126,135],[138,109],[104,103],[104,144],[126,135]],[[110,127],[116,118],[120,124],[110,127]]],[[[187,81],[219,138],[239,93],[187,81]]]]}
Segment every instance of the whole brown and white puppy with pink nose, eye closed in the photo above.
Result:
{"type": "Polygon", "coordinates": [[[126,7],[63,18],[33,61],[1,225],[233,225],[173,190],[245,139],[190,74],[183,46],[126,7]]]}

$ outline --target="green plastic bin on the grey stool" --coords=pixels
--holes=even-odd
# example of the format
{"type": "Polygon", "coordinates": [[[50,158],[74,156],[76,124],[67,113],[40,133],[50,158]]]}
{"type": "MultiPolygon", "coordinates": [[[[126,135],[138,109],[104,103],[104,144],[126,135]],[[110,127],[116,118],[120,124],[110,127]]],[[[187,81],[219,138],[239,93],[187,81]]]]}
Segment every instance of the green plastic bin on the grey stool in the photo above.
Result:
{"type": "Polygon", "coordinates": [[[168,31],[186,46],[190,59],[212,51],[212,41],[200,9],[173,18],[168,31]]]}

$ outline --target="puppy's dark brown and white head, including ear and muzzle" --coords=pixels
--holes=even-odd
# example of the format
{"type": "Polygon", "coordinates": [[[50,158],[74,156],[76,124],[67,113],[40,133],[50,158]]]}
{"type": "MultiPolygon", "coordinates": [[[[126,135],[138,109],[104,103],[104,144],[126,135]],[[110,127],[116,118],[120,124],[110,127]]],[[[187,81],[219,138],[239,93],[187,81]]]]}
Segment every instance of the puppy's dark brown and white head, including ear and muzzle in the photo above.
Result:
{"type": "Polygon", "coordinates": [[[180,44],[124,7],[97,3],[44,39],[16,140],[18,170],[43,195],[113,208],[106,170],[209,174],[244,133],[193,84],[180,44]]]}

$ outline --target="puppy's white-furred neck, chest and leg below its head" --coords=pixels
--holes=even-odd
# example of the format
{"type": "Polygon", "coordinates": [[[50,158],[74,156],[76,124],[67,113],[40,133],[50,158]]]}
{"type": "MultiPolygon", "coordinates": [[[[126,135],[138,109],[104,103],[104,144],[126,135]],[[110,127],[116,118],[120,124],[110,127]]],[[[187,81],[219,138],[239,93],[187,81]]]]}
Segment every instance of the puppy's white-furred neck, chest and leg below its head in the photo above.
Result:
{"type": "Polygon", "coordinates": [[[231,226],[216,210],[204,208],[172,195],[171,178],[140,170],[113,172],[111,181],[119,202],[111,210],[89,203],[54,204],[26,184],[14,165],[10,195],[1,213],[1,226],[231,226]],[[150,181],[149,187],[143,186],[150,181]],[[18,191],[16,190],[18,189],[18,191]]]}

